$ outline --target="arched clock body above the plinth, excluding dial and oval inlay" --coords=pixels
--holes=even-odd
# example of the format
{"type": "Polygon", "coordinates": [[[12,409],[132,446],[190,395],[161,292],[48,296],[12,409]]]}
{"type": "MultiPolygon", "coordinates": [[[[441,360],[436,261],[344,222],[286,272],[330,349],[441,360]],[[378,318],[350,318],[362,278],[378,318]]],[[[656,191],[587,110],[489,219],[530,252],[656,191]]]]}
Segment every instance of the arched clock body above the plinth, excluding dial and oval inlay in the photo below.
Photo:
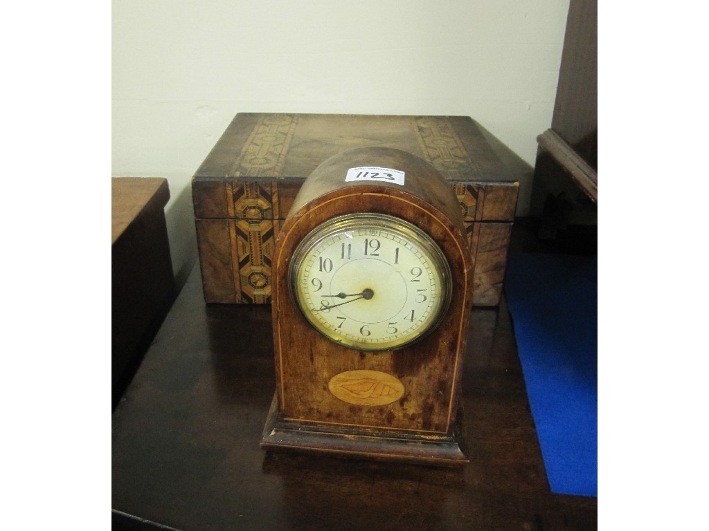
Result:
{"type": "Polygon", "coordinates": [[[280,420],[308,426],[450,436],[473,294],[473,263],[464,231],[452,188],[432,166],[406,152],[352,149],[326,161],[311,174],[284,222],[272,263],[280,420]],[[374,181],[346,183],[347,169],[363,164],[405,171],[406,186],[374,181]],[[318,225],[347,212],[400,217],[432,236],[446,256],[452,271],[450,308],[437,328],[418,343],[376,353],[337,345],[320,336],[291,299],[288,270],[296,246],[318,225]],[[328,391],[333,377],[357,370],[393,375],[406,394],[387,407],[357,408],[328,391]]]}

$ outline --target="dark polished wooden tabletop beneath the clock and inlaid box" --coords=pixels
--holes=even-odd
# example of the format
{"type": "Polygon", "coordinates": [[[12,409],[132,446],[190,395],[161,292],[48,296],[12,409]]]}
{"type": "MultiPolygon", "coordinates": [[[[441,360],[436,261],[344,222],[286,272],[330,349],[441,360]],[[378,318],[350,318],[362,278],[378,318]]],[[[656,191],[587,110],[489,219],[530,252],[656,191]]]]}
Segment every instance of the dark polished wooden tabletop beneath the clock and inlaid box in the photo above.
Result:
{"type": "Polygon", "coordinates": [[[114,529],[593,530],[549,491],[506,304],[476,308],[462,469],[270,453],[270,308],[207,305],[196,268],[113,413],[114,529]]]}

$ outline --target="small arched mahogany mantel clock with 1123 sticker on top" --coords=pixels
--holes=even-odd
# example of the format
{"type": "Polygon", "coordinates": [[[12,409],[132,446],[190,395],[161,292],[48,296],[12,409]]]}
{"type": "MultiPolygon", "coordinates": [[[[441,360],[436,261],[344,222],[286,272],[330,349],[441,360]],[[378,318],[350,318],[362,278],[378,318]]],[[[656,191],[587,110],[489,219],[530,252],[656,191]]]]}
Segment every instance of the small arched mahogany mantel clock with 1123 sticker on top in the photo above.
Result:
{"type": "Polygon", "coordinates": [[[306,178],[272,257],[277,391],[262,447],[462,464],[473,263],[430,164],[350,149],[306,178]]]}

